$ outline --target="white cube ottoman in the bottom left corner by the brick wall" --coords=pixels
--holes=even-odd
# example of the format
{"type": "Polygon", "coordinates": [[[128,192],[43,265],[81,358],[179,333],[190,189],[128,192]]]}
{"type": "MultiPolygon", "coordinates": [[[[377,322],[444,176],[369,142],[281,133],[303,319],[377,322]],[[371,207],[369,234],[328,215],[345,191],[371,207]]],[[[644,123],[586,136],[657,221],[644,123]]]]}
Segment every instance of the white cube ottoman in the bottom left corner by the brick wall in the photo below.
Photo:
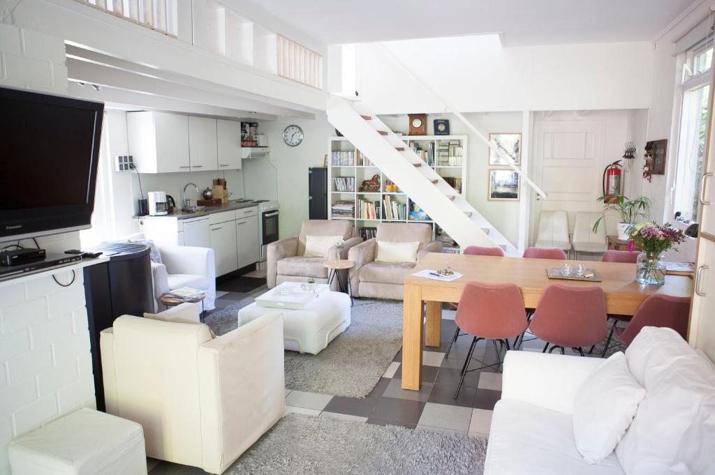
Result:
{"type": "Polygon", "coordinates": [[[10,442],[13,475],[147,475],[136,422],[79,409],[10,442]]]}

